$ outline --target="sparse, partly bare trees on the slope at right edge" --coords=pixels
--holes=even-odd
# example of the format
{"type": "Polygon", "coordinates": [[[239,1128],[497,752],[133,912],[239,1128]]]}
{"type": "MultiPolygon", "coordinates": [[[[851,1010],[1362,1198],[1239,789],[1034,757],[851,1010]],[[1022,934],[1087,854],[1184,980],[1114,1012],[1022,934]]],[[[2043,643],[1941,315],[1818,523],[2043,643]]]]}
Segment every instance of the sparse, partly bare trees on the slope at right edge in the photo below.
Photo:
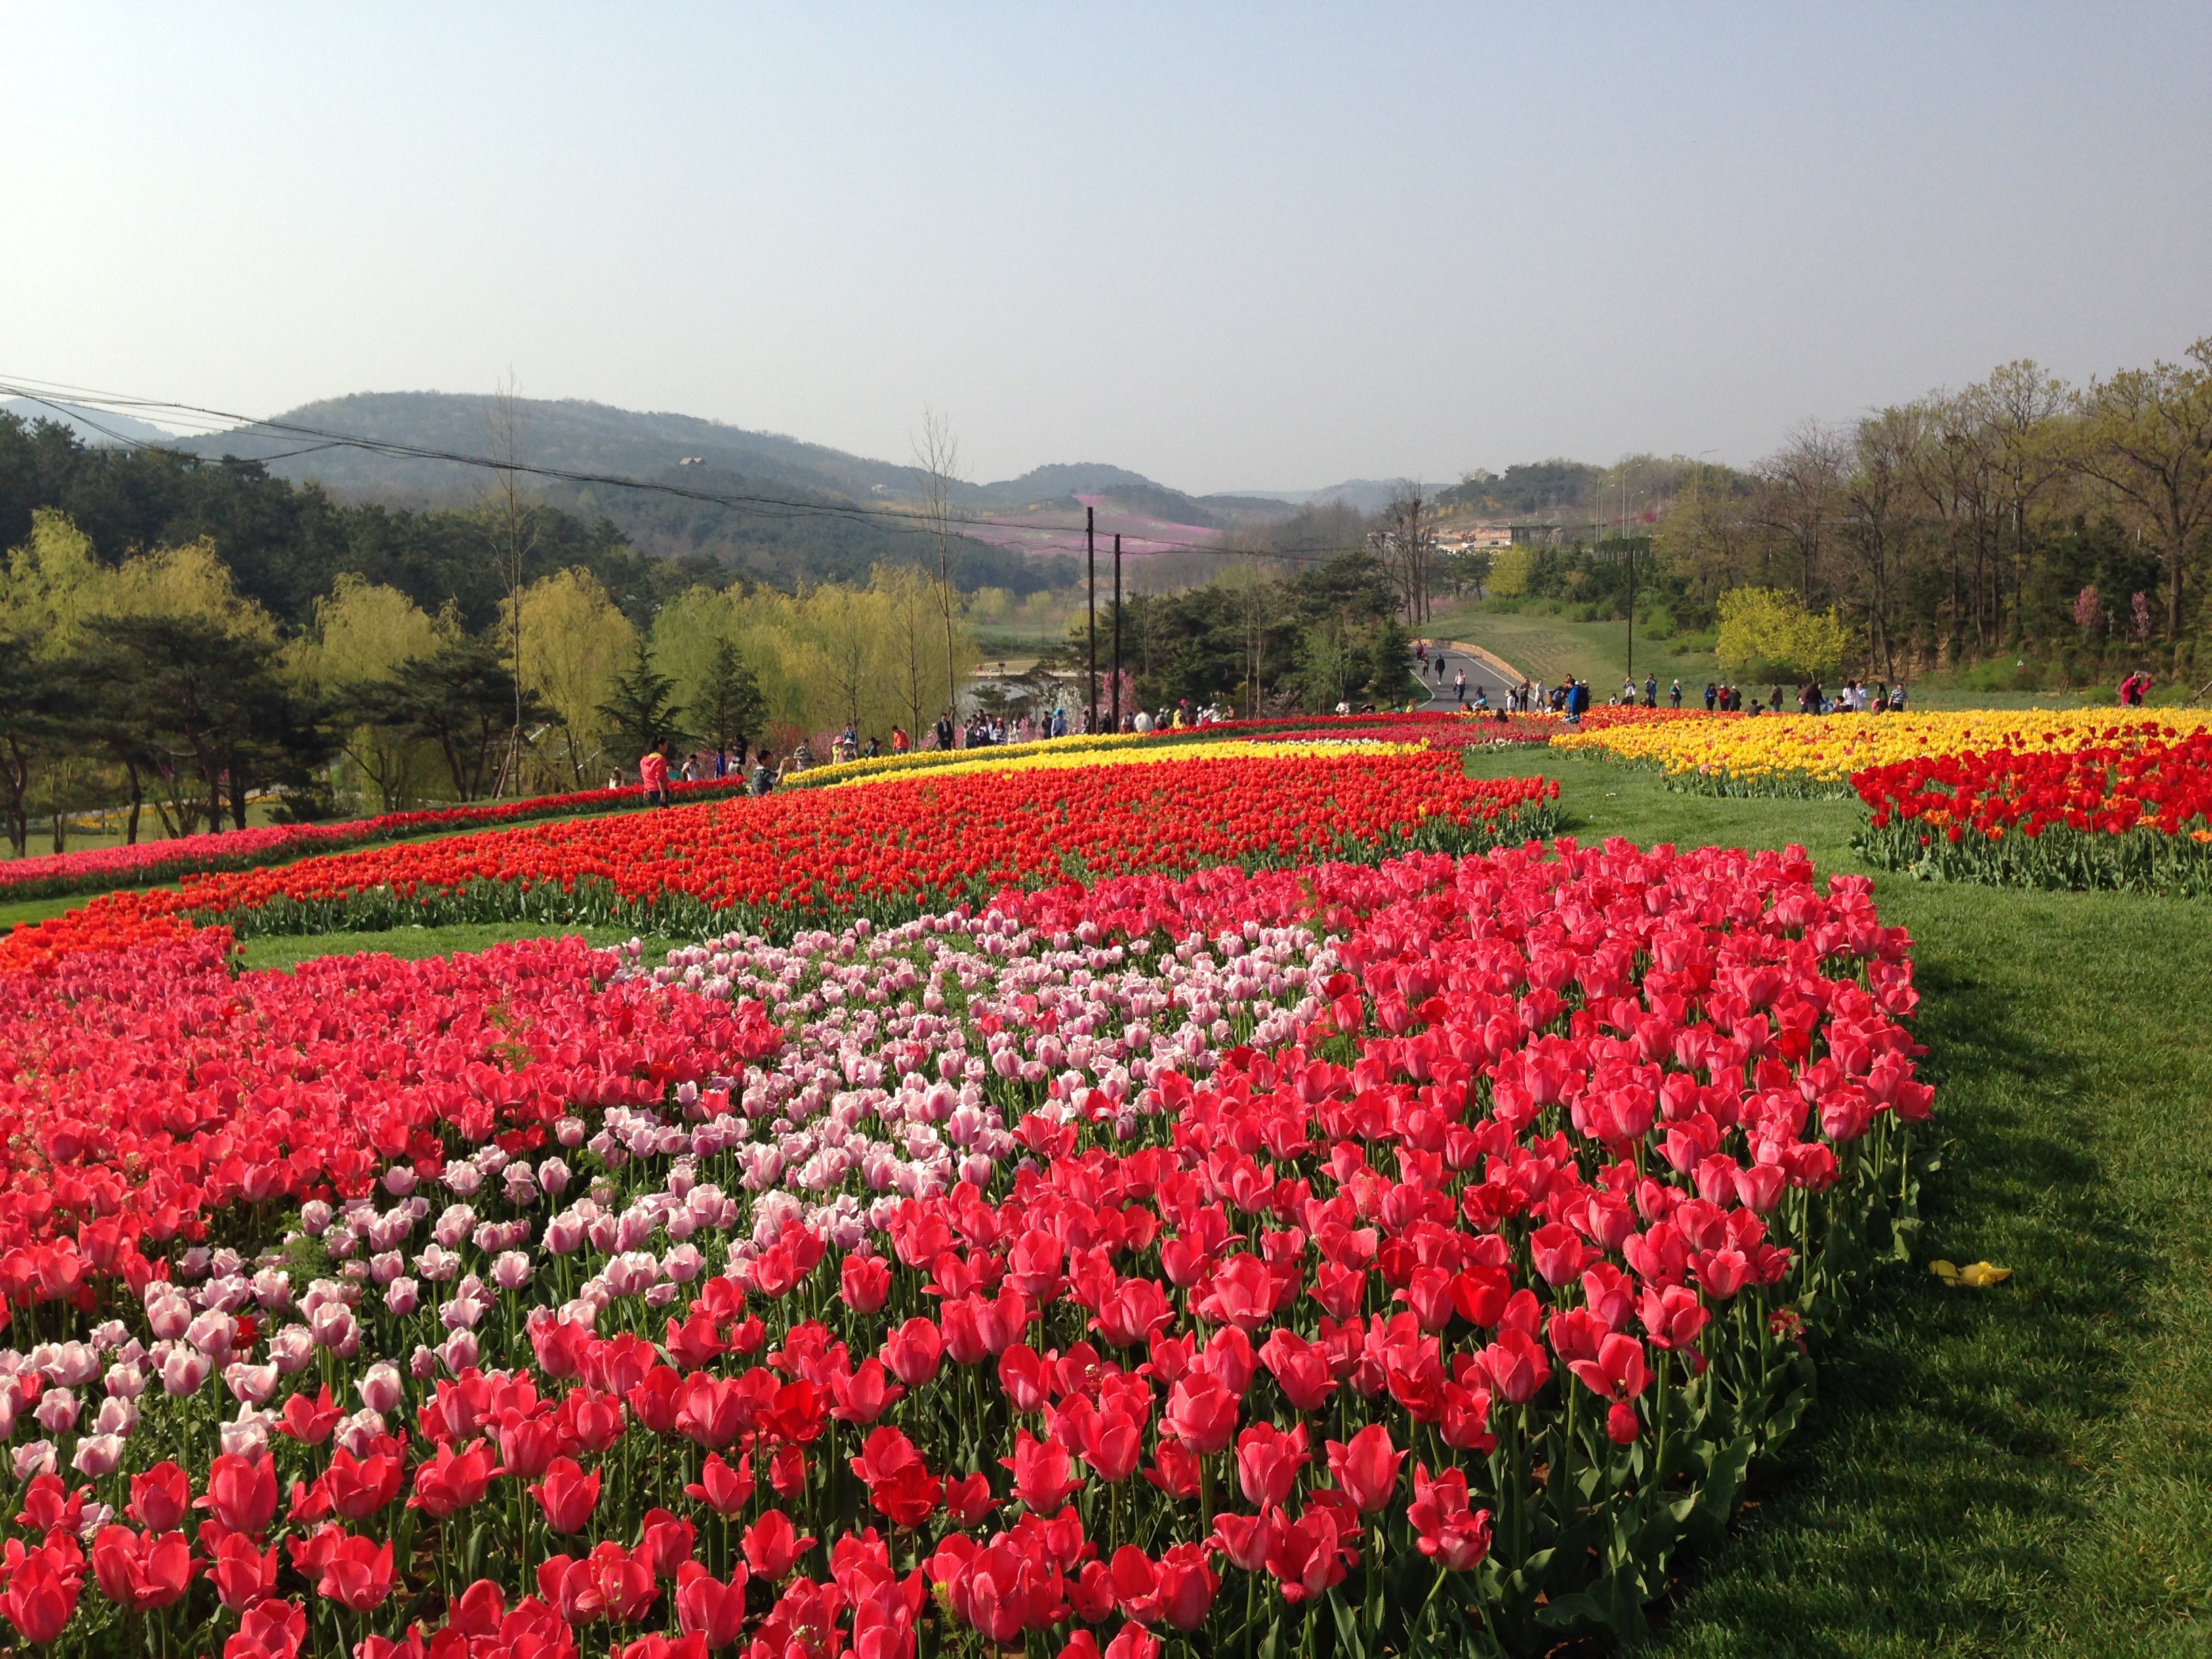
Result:
{"type": "Polygon", "coordinates": [[[1624,617],[1632,575],[1639,619],[1699,630],[1756,588],[1834,613],[1891,681],[2212,679],[2212,338],[2081,387],[2008,363],[1752,467],[1630,456],[1577,493],[1579,524],[1495,560],[1493,599],[1624,617]]]}

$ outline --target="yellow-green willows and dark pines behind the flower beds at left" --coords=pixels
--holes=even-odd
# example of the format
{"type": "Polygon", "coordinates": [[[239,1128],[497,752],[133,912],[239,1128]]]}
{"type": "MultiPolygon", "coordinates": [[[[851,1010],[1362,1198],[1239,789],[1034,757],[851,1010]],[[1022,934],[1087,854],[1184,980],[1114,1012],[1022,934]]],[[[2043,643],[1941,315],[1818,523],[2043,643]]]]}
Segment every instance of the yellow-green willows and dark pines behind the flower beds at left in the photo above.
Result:
{"type": "Polygon", "coordinates": [[[975,661],[962,597],[911,564],[799,593],[695,582],[639,617],[580,562],[480,619],[341,571],[294,624],[212,538],[111,560],[58,509],[29,520],[0,573],[18,856],[35,818],[62,852],[71,814],[95,810],[135,843],[243,830],[265,794],[312,821],[602,787],[650,741],[743,765],[845,723],[920,730],[975,661]]]}

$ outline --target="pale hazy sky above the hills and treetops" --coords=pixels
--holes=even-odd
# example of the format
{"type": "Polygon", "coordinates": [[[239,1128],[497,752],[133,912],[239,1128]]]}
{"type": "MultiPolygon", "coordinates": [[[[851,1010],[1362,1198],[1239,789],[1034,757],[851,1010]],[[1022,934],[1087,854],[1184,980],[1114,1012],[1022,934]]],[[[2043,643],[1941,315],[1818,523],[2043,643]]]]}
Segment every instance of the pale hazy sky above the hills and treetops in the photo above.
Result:
{"type": "Polygon", "coordinates": [[[0,0],[0,374],[679,409],[1192,491],[2212,332],[2212,7],[0,0]]]}

